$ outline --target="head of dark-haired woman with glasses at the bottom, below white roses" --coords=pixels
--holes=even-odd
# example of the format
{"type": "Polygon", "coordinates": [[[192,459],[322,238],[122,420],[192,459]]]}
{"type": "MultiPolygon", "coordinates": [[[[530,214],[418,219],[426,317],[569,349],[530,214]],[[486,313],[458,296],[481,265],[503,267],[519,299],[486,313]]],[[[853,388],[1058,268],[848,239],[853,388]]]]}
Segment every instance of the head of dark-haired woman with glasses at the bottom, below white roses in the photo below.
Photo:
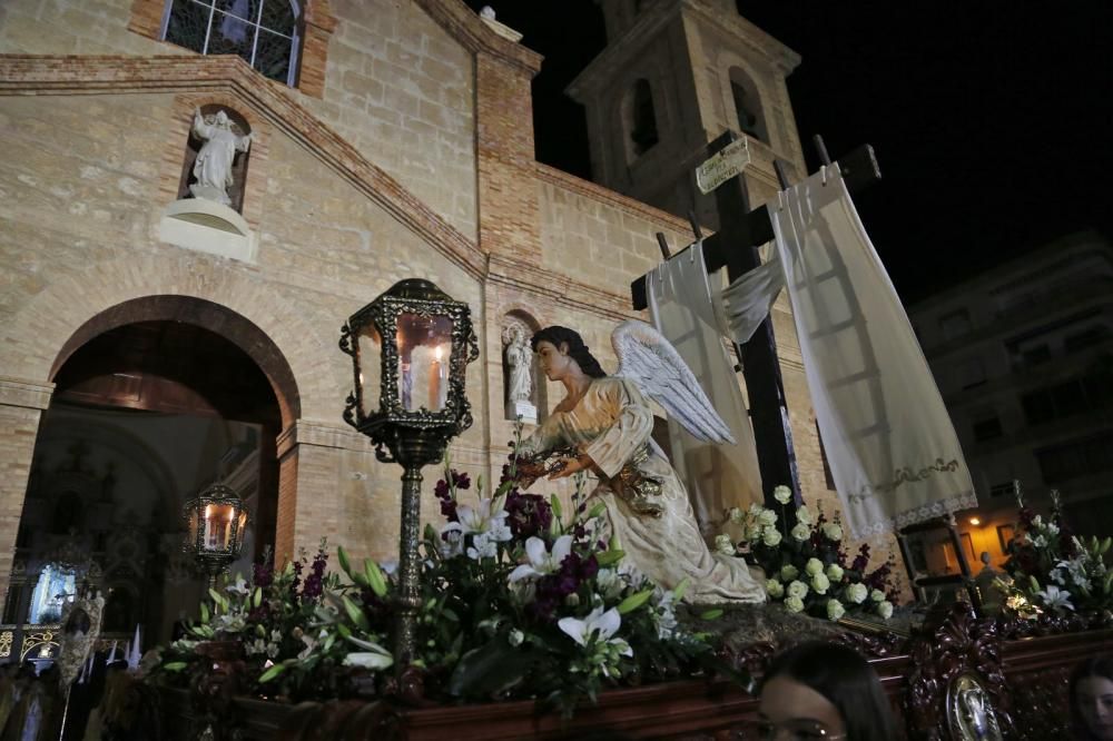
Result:
{"type": "MultiPolygon", "coordinates": [[[[801,643],[774,659],[761,682],[762,718],[774,727],[815,729],[846,741],[896,738],[881,682],[856,651],[834,643],[801,643]]],[[[774,737],[779,738],[779,737],[774,737]]]]}

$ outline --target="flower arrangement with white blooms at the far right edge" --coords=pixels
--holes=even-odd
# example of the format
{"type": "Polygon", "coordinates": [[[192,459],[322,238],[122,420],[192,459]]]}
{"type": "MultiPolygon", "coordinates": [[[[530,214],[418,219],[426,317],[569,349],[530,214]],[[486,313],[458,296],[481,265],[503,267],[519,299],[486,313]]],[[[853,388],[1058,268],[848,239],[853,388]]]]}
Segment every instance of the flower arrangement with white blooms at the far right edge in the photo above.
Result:
{"type": "Polygon", "coordinates": [[[1106,556],[1113,537],[1089,541],[1071,533],[1052,492],[1051,516],[1044,520],[1024,505],[1017,488],[1021,530],[1008,544],[1007,576],[996,581],[1005,609],[1021,618],[1044,612],[1091,612],[1113,607],[1113,569],[1106,556]]]}

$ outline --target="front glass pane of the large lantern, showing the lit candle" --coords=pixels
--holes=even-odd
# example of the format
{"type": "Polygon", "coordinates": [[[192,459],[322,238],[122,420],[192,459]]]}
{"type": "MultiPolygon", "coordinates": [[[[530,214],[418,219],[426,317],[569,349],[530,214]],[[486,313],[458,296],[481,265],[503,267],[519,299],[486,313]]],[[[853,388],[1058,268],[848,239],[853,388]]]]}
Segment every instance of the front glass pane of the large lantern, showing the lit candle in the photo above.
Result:
{"type": "Polygon", "coordinates": [[[406,412],[445,407],[451,357],[450,317],[398,315],[398,395],[406,412]]]}

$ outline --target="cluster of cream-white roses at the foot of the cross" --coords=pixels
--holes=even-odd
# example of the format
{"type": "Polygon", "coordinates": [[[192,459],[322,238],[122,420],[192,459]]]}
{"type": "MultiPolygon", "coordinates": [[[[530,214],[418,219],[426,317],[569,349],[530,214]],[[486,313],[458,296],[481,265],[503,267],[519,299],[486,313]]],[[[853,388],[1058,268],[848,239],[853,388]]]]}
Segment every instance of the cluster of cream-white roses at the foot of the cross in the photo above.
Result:
{"type": "Polygon", "coordinates": [[[733,507],[727,520],[741,527],[742,540],[735,543],[727,534],[716,537],[716,550],[741,555],[766,572],[766,592],[772,602],[782,602],[789,612],[838,620],[846,614],[888,620],[896,603],[889,582],[893,566],[884,563],[873,571],[869,545],[863,543],[848,564],[843,551],[843,526],[806,505],[796,508],[796,522],[789,527],[788,504],[792,491],[777,486],[774,498],[780,503],[780,516],[759,504],[747,511],[733,507]]]}

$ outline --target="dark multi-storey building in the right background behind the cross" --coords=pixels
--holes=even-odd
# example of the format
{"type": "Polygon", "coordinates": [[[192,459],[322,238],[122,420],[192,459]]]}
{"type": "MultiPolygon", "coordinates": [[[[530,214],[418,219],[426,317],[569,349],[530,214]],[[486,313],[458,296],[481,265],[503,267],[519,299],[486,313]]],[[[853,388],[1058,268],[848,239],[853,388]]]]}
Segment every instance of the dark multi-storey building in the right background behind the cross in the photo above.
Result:
{"type": "Polygon", "coordinates": [[[1110,241],[1072,234],[908,315],[974,476],[981,506],[959,522],[973,555],[1004,557],[1016,524],[1014,480],[1037,512],[1057,490],[1076,532],[1113,530],[1110,241]]]}

